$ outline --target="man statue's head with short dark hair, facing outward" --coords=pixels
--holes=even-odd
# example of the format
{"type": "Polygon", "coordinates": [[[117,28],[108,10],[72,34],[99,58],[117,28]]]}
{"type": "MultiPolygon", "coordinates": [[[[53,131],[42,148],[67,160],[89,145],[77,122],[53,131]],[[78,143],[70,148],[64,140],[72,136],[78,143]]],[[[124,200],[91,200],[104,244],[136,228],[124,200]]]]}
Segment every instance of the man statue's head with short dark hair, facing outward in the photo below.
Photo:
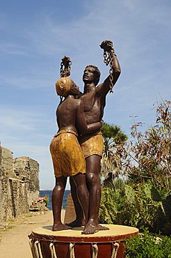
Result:
{"type": "Polygon", "coordinates": [[[97,66],[86,66],[83,72],[83,82],[94,82],[95,86],[98,84],[100,78],[100,71],[97,66]]]}

